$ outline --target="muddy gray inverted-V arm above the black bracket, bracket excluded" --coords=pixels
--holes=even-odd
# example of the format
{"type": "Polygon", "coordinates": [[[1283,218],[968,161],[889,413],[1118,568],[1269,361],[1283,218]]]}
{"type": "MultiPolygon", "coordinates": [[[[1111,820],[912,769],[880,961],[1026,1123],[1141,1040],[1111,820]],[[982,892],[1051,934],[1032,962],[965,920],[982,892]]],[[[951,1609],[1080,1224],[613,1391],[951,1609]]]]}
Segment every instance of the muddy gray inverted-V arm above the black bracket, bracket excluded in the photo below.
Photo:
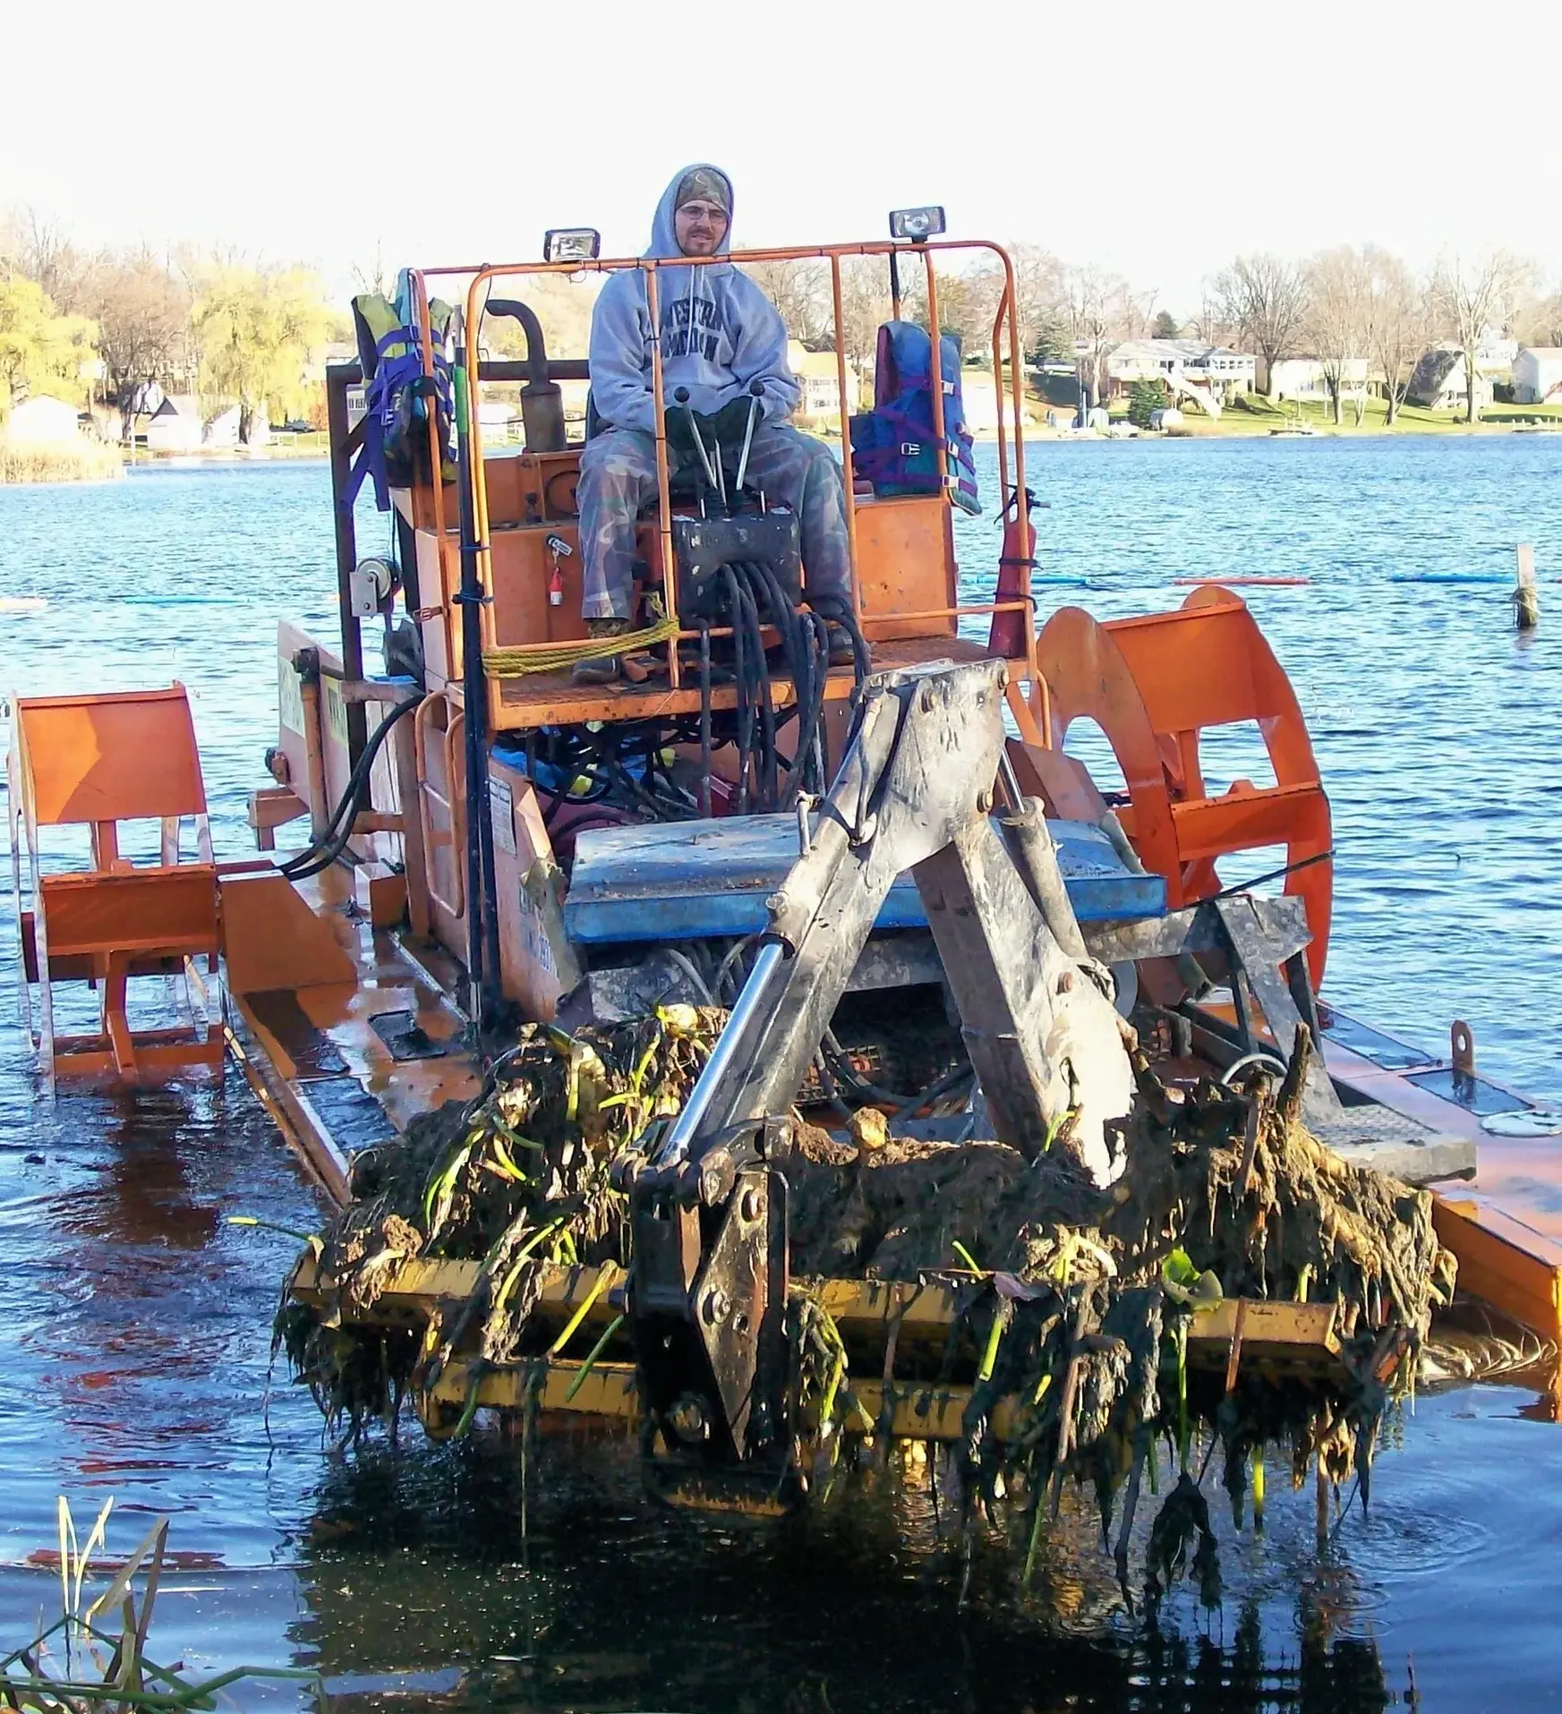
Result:
{"type": "MultiPolygon", "coordinates": [[[[698,1160],[729,1128],[792,1106],[885,896],[910,869],[1000,1140],[1034,1155],[1068,1116],[1084,1164],[1111,1174],[1108,1128],[1132,1095],[1116,1016],[989,819],[1006,672],[982,660],[868,680],[809,850],[768,902],[770,944],[660,1166],[698,1160]]],[[[1061,881],[1056,893],[1066,910],[1061,881]]],[[[1072,912],[1068,927],[1082,950],[1072,912]]]]}

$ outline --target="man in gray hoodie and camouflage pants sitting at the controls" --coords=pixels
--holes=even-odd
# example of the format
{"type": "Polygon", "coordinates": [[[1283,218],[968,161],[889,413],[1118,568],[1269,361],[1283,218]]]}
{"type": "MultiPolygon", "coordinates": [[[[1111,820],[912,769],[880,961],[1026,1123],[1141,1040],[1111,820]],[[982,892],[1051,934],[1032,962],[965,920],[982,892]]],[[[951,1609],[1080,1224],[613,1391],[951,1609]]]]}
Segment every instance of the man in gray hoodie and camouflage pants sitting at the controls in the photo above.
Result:
{"type": "MultiPolygon", "coordinates": [[[[730,180],[715,166],[689,166],[662,194],[645,254],[724,255],[730,228],[730,180]]],[[[746,485],[799,516],[809,603],[828,608],[830,598],[849,602],[845,485],[830,449],[787,422],[797,405],[797,382],[787,367],[787,329],[775,305],[730,262],[660,267],[657,290],[674,464],[682,447],[694,451],[696,435],[703,447],[736,452],[746,446],[746,485]]],[[[657,497],[652,338],[645,274],[614,274],[592,314],[592,403],[600,428],[581,452],[576,490],[581,615],[593,638],[633,629],[634,521],[657,497]]],[[[850,638],[832,622],[830,662],[850,660],[850,638]]],[[[617,656],[574,668],[583,684],[617,677],[617,656]]]]}

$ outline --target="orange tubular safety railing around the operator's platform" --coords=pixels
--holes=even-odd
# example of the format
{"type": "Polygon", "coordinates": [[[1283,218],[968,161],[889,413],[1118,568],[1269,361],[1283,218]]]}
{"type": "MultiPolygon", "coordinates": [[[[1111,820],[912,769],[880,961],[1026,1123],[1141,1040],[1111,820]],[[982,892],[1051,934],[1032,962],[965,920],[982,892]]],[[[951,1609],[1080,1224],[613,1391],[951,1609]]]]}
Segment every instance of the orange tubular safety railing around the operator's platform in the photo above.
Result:
{"type": "MultiPolygon", "coordinates": [[[[820,245],[809,249],[766,249],[766,250],[742,250],[730,252],[720,257],[677,257],[662,261],[657,257],[619,257],[619,259],[597,259],[592,262],[501,262],[501,264],[477,264],[477,266],[451,266],[451,267],[429,267],[413,269],[413,295],[417,300],[418,329],[422,334],[422,360],[424,372],[432,379],[434,375],[434,346],[432,346],[432,324],[429,315],[429,286],[427,281],[432,278],[468,278],[466,288],[466,312],[463,319],[463,339],[465,339],[465,363],[470,396],[468,411],[468,434],[472,437],[472,458],[468,459],[472,471],[472,514],[477,530],[477,550],[478,550],[478,579],[482,583],[484,593],[492,596],[494,593],[494,572],[490,557],[490,538],[489,538],[489,494],[487,494],[487,471],[484,468],[482,452],[482,423],[480,423],[480,389],[482,382],[478,377],[478,345],[477,329],[482,319],[482,307],[487,300],[490,283],[501,278],[516,278],[528,274],[580,274],[580,273],[624,273],[628,269],[638,269],[646,276],[646,307],[652,317],[652,324],[658,326],[658,279],[657,274],[665,266],[679,267],[701,267],[717,266],[729,262],[782,262],[782,261],[828,261],[830,264],[830,286],[832,300],[835,305],[835,360],[840,377],[840,398],[842,398],[842,463],[845,468],[845,518],[847,518],[847,540],[850,545],[850,566],[852,566],[852,610],[861,617],[862,614],[862,596],[861,584],[857,578],[857,516],[856,516],[856,495],[852,482],[852,444],[850,444],[850,418],[844,408],[847,396],[847,358],[845,346],[840,336],[842,322],[842,285],[840,285],[840,262],[844,257],[857,255],[921,255],[926,288],[928,288],[928,315],[929,322],[938,321],[938,283],[936,271],[933,266],[933,252],[952,250],[952,252],[972,252],[986,250],[998,257],[1003,266],[1003,295],[998,310],[993,317],[993,384],[998,393],[998,482],[1000,482],[1000,499],[1003,506],[1008,506],[1010,497],[1015,490],[1024,490],[1025,487],[1025,447],[1024,432],[1020,425],[1020,406],[1024,393],[1024,370],[1020,362],[1020,336],[1018,336],[1018,317],[1015,314],[1015,281],[1013,281],[1013,264],[1001,245],[991,243],[988,240],[934,240],[929,243],[895,243],[895,242],[874,242],[874,243],[852,243],[852,245],[820,245]],[[1008,363],[1010,363],[1010,408],[1013,411],[1013,483],[1010,483],[1010,446],[1005,432],[1005,401],[1003,401],[1003,343],[1005,329],[1008,334],[1008,363]]],[[[941,370],[941,350],[940,341],[933,341],[933,425],[938,439],[938,470],[940,476],[945,480],[945,504],[948,500],[948,466],[945,454],[945,435],[943,435],[943,370],[941,370]]],[[[672,555],[672,509],[669,502],[669,468],[667,468],[667,430],[665,430],[665,394],[662,384],[662,346],[660,339],[652,345],[652,393],[655,398],[655,420],[657,420],[657,490],[660,500],[660,533],[662,533],[662,566],[667,591],[667,610],[670,614],[677,612],[677,569],[674,566],[672,555]]],[[[429,413],[429,451],[430,451],[430,470],[439,471],[441,468],[441,447],[437,444],[437,430],[434,422],[434,413],[429,413]]],[[[434,530],[436,536],[442,542],[446,533],[446,506],[442,483],[434,480],[434,530]]],[[[1022,538],[1022,555],[1030,557],[1032,554],[1032,533],[1030,521],[1025,507],[1020,507],[1020,538],[1022,538]]],[[[1042,684],[1041,674],[1036,667],[1036,602],[1032,595],[1024,595],[1013,602],[976,602],[976,603],[955,603],[945,608],[929,608],[921,614],[897,615],[904,619],[926,619],[929,622],[958,622],[958,619],[967,615],[981,614],[1000,614],[1000,612],[1024,612],[1025,614],[1025,655],[1024,667],[1015,674],[1015,682],[1010,689],[1010,706],[1013,708],[1015,718],[1020,722],[1022,730],[1032,740],[1046,742],[1049,737],[1049,710],[1046,706],[1046,687],[1042,684]],[[1025,696],[1025,687],[1029,686],[1029,699],[1025,696]]],[[[492,603],[487,602],[480,608],[482,617],[482,639],[484,648],[494,648],[494,614],[492,603]]],[[[712,632],[713,636],[718,632],[712,632]]],[[[677,639],[667,643],[667,675],[669,684],[674,691],[679,689],[679,658],[677,643],[693,638],[694,632],[684,631],[677,639]]],[[[521,644],[514,651],[544,651],[554,644],[521,644]]]]}

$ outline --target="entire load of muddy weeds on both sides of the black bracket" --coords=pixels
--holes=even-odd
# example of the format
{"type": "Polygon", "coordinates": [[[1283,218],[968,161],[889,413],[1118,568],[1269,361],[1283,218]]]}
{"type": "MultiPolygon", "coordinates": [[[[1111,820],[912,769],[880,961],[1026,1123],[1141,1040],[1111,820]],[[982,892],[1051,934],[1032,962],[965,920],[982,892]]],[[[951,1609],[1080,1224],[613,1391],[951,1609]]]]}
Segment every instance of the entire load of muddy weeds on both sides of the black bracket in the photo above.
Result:
{"type": "MultiPolygon", "coordinates": [[[[430,1429],[463,1429],[470,1404],[449,1421],[425,1397],[449,1356],[525,1364],[542,1349],[528,1316],[545,1265],[628,1262],[612,1162],[681,1109],[720,1023],[670,1006],[574,1037],[528,1027],[477,1100],[358,1159],[355,1202],[312,1241],[324,1309],[290,1301],[278,1316],[295,1373],[348,1438],[370,1419],[393,1424],[408,1393],[430,1429]],[[472,1297],[424,1327],[375,1320],[398,1263],[415,1256],[480,1263],[472,1297]]],[[[799,1119],[782,1164],[797,1467],[818,1477],[842,1447],[886,1438],[856,1381],[890,1383],[885,1414],[897,1395],[957,1383],[969,1402],[950,1467],[969,1531],[1018,1501],[1034,1555],[1065,1483],[1082,1484],[1126,1591],[1149,1484],[1164,1495],[1147,1543],[1150,1603],[1178,1577],[1217,1599],[1202,1488],[1216,1457],[1238,1519],[1250,1488],[1262,1505],[1265,1452],[1298,1483],[1313,1469],[1320,1496],[1356,1474],[1365,1500],[1379,1423],[1452,1294],[1454,1265],[1425,1191],[1346,1166],[1308,1135],[1310,1058],[1303,1032],[1277,1088],[1178,1090],[1135,1054],[1125,1169],[1108,1190],[1063,1148],[1025,1160],[993,1142],[890,1138],[871,1107],[845,1138],[799,1119]],[[897,1363],[893,1333],[888,1356],[849,1349],[823,1303],[830,1279],[952,1287],[943,1351],[897,1363]],[[1331,1349],[1295,1373],[1243,1363],[1238,1320],[1224,1371],[1192,1366],[1190,1335],[1197,1345],[1200,1316],[1224,1299],[1332,1304],[1331,1349]]]]}

